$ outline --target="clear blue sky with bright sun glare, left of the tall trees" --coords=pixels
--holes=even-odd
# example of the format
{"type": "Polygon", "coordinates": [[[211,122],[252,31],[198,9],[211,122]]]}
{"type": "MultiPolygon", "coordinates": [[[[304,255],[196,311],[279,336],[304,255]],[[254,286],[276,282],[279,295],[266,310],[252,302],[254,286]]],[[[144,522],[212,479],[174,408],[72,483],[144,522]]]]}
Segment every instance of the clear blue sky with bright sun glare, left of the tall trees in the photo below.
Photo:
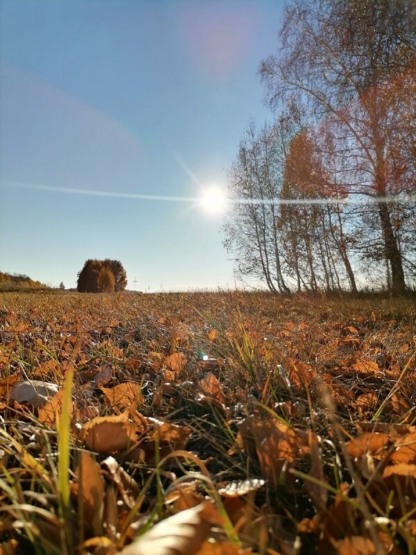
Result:
{"type": "Polygon", "coordinates": [[[223,214],[192,199],[270,119],[283,5],[0,0],[0,271],[69,288],[114,258],[128,289],[234,287],[223,214]]]}

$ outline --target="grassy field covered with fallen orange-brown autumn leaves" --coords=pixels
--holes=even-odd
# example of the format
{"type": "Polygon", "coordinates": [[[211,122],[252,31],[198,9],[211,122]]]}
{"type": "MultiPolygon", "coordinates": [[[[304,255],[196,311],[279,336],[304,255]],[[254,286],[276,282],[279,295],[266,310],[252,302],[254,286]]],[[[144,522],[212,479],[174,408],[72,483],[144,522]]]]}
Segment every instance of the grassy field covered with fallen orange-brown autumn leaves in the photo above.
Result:
{"type": "Polygon", "coordinates": [[[1,293],[0,554],[415,553],[415,316],[1,293]],[[21,380],[59,391],[17,398],[21,380]]]}

